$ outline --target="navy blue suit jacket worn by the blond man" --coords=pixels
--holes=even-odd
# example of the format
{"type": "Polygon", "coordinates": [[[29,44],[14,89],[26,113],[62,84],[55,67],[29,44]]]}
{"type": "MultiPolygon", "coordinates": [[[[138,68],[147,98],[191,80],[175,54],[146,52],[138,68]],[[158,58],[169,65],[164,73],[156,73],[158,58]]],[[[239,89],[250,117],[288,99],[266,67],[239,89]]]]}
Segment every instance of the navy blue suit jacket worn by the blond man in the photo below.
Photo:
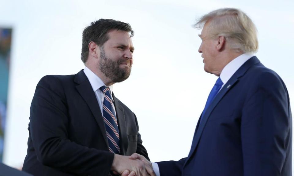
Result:
{"type": "Polygon", "coordinates": [[[292,175],[288,91],[257,57],[228,80],[197,126],[188,157],[158,162],[160,176],[292,175]]]}

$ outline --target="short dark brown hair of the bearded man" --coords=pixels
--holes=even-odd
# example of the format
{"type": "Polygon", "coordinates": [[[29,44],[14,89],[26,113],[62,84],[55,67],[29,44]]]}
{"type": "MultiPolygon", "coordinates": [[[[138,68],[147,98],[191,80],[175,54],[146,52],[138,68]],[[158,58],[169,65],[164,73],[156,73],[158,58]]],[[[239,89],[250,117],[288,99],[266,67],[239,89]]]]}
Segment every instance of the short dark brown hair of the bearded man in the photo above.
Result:
{"type": "Polygon", "coordinates": [[[134,36],[134,31],[128,23],[112,19],[100,19],[91,23],[83,31],[81,60],[85,63],[89,55],[89,43],[95,42],[102,46],[109,39],[107,33],[112,30],[122,30],[130,32],[130,37],[134,36]]]}

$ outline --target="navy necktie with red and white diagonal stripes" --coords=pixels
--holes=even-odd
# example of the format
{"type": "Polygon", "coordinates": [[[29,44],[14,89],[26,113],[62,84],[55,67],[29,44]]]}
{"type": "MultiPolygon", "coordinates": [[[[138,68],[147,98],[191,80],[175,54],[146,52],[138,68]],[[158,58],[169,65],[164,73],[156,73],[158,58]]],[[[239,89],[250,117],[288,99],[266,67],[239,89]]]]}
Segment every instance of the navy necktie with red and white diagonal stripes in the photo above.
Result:
{"type": "Polygon", "coordinates": [[[106,86],[102,86],[100,90],[105,95],[103,101],[103,119],[109,145],[108,149],[111,153],[120,154],[119,127],[117,125],[115,111],[112,107],[110,89],[106,86]]]}

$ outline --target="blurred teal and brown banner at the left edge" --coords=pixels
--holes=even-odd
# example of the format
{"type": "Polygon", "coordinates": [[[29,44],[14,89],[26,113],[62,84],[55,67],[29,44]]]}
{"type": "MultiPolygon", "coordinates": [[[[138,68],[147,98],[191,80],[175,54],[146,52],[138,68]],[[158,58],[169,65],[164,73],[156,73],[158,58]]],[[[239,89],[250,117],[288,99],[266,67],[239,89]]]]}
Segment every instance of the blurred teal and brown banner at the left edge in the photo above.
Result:
{"type": "Polygon", "coordinates": [[[3,156],[12,29],[0,27],[0,163],[3,156]]]}

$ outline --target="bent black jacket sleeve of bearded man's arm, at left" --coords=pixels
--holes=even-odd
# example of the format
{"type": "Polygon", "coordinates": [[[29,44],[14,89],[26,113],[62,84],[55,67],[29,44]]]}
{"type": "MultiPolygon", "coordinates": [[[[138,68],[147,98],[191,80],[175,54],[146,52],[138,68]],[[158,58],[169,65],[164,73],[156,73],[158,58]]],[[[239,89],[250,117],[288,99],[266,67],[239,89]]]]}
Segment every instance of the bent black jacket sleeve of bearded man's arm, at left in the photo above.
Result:
{"type": "Polygon", "coordinates": [[[75,175],[107,175],[114,155],[70,141],[69,123],[60,81],[55,76],[43,77],[36,86],[30,110],[30,132],[37,159],[75,175]]]}

